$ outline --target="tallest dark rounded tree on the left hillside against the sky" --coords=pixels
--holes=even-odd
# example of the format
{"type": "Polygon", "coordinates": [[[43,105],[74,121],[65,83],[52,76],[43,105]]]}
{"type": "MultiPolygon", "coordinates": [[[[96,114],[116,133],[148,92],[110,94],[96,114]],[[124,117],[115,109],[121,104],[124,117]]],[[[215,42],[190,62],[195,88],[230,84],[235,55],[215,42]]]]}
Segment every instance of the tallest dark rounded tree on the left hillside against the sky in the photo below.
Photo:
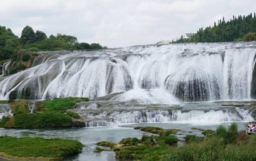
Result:
{"type": "Polygon", "coordinates": [[[20,36],[20,41],[23,44],[35,43],[35,32],[33,28],[26,26],[22,30],[22,35],[20,36]]]}

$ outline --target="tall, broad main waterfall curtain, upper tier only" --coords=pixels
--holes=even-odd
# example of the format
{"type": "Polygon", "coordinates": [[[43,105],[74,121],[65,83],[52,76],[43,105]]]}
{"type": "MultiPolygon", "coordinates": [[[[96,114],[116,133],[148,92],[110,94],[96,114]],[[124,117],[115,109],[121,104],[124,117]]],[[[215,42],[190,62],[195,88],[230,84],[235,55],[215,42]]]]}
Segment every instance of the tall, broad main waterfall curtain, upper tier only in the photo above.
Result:
{"type": "Polygon", "coordinates": [[[2,78],[0,99],[9,99],[12,92],[19,98],[46,99],[122,91],[146,100],[158,95],[167,104],[251,99],[255,52],[255,42],[49,52],[35,67],[2,78]],[[136,93],[141,90],[147,96],[136,93]]]}

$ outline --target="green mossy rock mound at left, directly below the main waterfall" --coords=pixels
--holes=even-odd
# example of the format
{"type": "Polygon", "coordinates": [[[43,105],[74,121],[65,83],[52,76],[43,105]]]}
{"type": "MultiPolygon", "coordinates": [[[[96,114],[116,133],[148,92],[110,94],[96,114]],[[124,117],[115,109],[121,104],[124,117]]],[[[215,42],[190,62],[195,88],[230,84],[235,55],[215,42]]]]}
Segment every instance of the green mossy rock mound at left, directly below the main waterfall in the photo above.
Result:
{"type": "Polygon", "coordinates": [[[33,110],[35,113],[28,114],[28,102],[0,101],[9,104],[12,108],[13,117],[5,117],[0,120],[2,128],[62,128],[83,127],[85,122],[75,112],[67,112],[77,102],[89,101],[88,98],[62,98],[36,102],[33,110]]]}

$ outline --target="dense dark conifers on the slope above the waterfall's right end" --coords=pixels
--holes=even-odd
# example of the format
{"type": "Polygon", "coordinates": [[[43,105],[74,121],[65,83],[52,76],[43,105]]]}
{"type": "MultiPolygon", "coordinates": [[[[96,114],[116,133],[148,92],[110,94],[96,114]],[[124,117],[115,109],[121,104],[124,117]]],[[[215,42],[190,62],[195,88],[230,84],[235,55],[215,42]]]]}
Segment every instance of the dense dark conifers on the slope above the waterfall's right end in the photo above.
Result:
{"type": "Polygon", "coordinates": [[[256,17],[249,14],[247,16],[233,16],[233,19],[226,21],[223,17],[214,23],[213,27],[199,28],[197,33],[191,38],[181,37],[176,43],[184,42],[226,42],[226,41],[254,41],[256,40],[256,17]]]}

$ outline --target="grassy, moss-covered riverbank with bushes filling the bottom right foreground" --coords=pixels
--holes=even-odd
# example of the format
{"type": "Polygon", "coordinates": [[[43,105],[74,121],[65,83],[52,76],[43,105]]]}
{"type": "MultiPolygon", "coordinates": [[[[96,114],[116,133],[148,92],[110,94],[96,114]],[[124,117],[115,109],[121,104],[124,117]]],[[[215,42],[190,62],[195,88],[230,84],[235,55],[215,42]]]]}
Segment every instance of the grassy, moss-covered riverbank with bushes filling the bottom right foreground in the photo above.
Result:
{"type": "Polygon", "coordinates": [[[184,136],[184,145],[178,147],[177,136],[169,130],[152,127],[138,127],[137,130],[158,135],[143,135],[141,139],[124,138],[120,142],[97,142],[94,152],[114,151],[120,160],[255,160],[256,136],[237,132],[237,125],[228,128],[218,126],[216,131],[202,130],[203,137],[195,134],[184,136]]]}

